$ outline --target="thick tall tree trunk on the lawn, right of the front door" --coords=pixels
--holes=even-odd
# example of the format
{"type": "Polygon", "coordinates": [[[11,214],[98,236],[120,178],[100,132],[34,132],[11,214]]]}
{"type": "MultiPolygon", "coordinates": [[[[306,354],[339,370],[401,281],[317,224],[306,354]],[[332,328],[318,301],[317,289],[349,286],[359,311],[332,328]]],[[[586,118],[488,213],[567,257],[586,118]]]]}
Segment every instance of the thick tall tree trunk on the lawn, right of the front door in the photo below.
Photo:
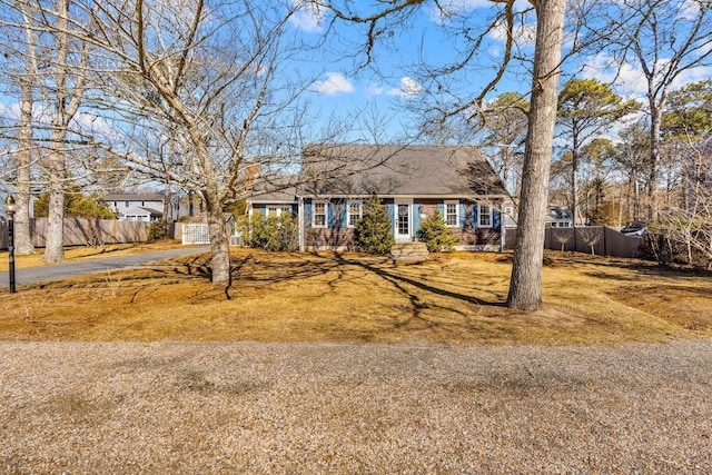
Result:
{"type": "Polygon", "coordinates": [[[566,0],[533,2],[537,12],[536,51],[524,154],[520,221],[507,306],[542,308],[544,222],[558,100],[558,72],[566,0]]]}

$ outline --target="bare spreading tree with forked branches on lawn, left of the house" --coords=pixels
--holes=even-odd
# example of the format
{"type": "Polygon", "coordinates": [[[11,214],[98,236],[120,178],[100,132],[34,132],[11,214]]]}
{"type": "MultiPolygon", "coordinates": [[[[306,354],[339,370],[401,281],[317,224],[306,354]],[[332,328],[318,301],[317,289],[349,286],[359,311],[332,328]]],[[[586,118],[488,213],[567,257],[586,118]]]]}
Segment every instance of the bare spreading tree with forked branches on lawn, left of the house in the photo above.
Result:
{"type": "MultiPolygon", "coordinates": [[[[295,185],[289,177],[305,140],[316,136],[305,135],[303,99],[314,78],[298,68],[314,46],[288,28],[295,6],[135,0],[76,8],[89,21],[72,23],[71,33],[95,53],[87,103],[103,125],[83,136],[200,198],[212,283],[229,285],[226,207],[295,185]],[[168,147],[150,152],[147,139],[168,147]]],[[[333,125],[325,136],[338,132],[333,125]]]]}

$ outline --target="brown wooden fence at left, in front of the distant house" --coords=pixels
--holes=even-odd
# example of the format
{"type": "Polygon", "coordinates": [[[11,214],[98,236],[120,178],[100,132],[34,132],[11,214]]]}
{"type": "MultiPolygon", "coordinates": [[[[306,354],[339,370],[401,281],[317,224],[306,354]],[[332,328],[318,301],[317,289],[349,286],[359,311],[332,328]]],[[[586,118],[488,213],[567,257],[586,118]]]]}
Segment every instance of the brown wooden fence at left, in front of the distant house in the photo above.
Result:
{"type": "MultiPolygon", "coordinates": [[[[102,244],[146,241],[150,222],[119,221],[116,219],[65,219],[65,246],[97,246],[102,244]]],[[[30,219],[30,232],[34,247],[44,247],[48,219],[30,219]]],[[[170,236],[176,238],[176,226],[170,236]]],[[[0,221],[0,249],[8,248],[8,225],[0,221]]]]}

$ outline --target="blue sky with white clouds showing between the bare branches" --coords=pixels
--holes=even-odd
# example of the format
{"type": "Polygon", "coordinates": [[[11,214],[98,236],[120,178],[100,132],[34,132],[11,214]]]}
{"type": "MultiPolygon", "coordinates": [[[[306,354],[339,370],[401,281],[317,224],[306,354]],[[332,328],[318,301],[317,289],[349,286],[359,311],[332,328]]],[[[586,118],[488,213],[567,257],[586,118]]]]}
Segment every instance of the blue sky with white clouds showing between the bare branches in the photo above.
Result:
{"type": "MultiPolygon", "coordinates": [[[[312,58],[312,66],[306,66],[317,75],[309,87],[313,117],[322,121],[315,127],[325,126],[334,116],[353,119],[352,116],[360,115],[365,122],[378,121],[379,139],[397,140],[403,136],[404,129],[412,130],[421,119],[416,112],[413,112],[413,106],[423,102],[425,97],[438,100],[451,100],[457,97],[464,100],[477,96],[484,85],[493,78],[504,51],[505,31],[497,26],[486,33],[477,55],[471,59],[467,70],[452,78],[437,78],[442,80],[443,90],[446,91],[439,92],[436,83],[422,77],[421,63],[425,61],[431,67],[442,67],[464,55],[467,44],[455,40],[455,36],[447,30],[448,27],[457,27],[456,16],[449,18],[443,16],[433,9],[433,2],[426,2],[417,14],[407,19],[403,28],[387,29],[383,41],[378,41],[373,50],[373,63],[369,67],[359,68],[364,66],[365,57],[356,52],[364,44],[365,28],[337,22],[329,29],[327,11],[314,7],[309,0],[285,1],[301,6],[289,20],[293,32],[313,42],[328,33],[322,56],[312,58]]],[[[376,0],[340,1],[363,8],[359,12],[367,13],[368,6],[376,0]]],[[[571,6],[576,1],[580,0],[568,0],[568,3],[571,6]]],[[[615,3],[619,0],[610,1],[615,3]]],[[[670,3],[679,6],[674,14],[684,17],[694,11],[695,1],[698,0],[670,0],[670,3]]],[[[483,31],[484,26],[490,24],[495,14],[493,2],[490,0],[441,0],[439,3],[454,13],[466,16],[473,37],[483,31]]],[[[517,0],[515,3],[517,11],[528,8],[530,3],[526,0],[517,0]]],[[[526,95],[531,88],[527,61],[533,57],[534,51],[536,32],[534,14],[517,16],[515,31],[516,53],[525,61],[513,61],[512,68],[488,99],[508,91],[526,95]]],[[[684,32],[680,33],[681,38],[684,37],[684,32]]],[[[564,77],[561,85],[576,71],[578,78],[595,78],[614,83],[619,93],[644,102],[643,97],[647,85],[640,66],[634,61],[626,61],[619,70],[611,68],[612,60],[611,53],[606,51],[568,58],[563,65],[564,77]]],[[[664,56],[661,57],[661,65],[666,60],[664,56]]],[[[304,68],[305,65],[299,67],[304,68]]],[[[694,68],[681,75],[674,87],[709,78],[712,78],[710,67],[694,68]]],[[[7,100],[0,101],[0,116],[17,118],[17,98],[4,99],[7,100]]],[[[96,126],[93,116],[80,113],[77,120],[91,122],[88,127],[96,126]]],[[[359,125],[353,121],[350,125],[355,130],[348,137],[349,139],[373,140],[372,131],[366,127],[368,123],[359,125]]]]}

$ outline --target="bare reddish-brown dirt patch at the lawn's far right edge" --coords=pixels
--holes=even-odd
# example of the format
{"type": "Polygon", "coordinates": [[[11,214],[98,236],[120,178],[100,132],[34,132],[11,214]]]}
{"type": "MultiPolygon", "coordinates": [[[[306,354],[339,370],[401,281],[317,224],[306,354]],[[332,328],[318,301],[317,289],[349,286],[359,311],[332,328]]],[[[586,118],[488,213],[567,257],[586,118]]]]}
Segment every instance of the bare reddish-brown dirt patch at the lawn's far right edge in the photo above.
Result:
{"type": "Polygon", "coordinates": [[[705,289],[670,285],[634,286],[612,291],[610,296],[689,330],[712,329],[712,295],[705,289]]]}

